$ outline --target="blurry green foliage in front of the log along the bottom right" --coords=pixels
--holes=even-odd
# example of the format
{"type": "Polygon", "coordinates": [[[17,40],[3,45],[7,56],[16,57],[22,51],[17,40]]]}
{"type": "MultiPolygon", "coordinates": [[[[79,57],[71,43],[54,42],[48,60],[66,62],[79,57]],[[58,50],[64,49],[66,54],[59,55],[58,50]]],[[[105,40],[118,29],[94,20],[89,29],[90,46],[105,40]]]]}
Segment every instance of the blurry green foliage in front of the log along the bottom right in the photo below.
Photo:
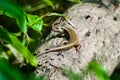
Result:
{"type": "Polygon", "coordinates": [[[82,71],[83,75],[76,74],[71,69],[63,68],[62,72],[69,77],[70,80],[83,80],[83,77],[86,76],[89,72],[95,73],[97,80],[110,80],[105,69],[98,64],[96,61],[89,62],[88,68],[82,71]]]}

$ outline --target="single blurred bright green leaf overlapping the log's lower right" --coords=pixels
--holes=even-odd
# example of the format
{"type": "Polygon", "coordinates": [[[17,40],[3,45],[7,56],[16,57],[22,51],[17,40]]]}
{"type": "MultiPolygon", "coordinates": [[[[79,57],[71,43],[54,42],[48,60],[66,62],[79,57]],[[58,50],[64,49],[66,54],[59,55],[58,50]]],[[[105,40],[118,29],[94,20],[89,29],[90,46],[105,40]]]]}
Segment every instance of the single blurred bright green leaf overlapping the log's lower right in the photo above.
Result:
{"type": "Polygon", "coordinates": [[[98,80],[110,80],[105,69],[95,61],[89,63],[89,69],[95,72],[98,80]]]}

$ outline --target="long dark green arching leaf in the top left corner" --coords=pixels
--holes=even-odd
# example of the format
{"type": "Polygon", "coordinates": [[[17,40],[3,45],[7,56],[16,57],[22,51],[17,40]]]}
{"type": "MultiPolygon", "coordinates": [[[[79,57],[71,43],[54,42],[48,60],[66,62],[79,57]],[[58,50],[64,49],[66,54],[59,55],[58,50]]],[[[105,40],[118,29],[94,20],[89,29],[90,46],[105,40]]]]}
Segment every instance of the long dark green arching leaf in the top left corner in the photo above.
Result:
{"type": "Polygon", "coordinates": [[[0,9],[5,11],[7,16],[16,19],[17,24],[22,32],[27,32],[25,14],[18,5],[8,0],[0,0],[0,9]]]}

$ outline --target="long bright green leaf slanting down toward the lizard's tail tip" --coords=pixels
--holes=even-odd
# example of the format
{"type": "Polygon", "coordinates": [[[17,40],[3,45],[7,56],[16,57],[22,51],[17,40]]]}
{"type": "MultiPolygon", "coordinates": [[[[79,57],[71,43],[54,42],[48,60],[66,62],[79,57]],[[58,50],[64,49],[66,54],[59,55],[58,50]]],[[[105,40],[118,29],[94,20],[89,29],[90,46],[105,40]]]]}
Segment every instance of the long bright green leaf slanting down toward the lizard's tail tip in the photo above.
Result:
{"type": "Polygon", "coordinates": [[[19,53],[21,53],[25,57],[25,59],[28,60],[31,65],[35,67],[37,66],[38,62],[36,57],[33,56],[32,53],[27,50],[25,46],[23,46],[13,34],[2,27],[0,27],[0,39],[11,44],[19,53]]]}

